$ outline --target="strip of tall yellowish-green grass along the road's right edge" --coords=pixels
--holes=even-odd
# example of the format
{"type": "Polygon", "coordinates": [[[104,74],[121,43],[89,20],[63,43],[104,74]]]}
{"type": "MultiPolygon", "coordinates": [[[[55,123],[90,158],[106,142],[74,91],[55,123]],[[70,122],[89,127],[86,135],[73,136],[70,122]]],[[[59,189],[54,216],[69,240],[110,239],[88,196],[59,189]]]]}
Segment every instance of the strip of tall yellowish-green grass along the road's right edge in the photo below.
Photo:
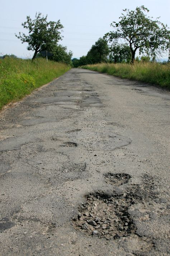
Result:
{"type": "Polygon", "coordinates": [[[125,63],[101,63],[86,65],[81,68],[91,69],[93,71],[99,71],[121,78],[147,82],[170,89],[170,64],[135,63],[132,65],[125,63]]]}

